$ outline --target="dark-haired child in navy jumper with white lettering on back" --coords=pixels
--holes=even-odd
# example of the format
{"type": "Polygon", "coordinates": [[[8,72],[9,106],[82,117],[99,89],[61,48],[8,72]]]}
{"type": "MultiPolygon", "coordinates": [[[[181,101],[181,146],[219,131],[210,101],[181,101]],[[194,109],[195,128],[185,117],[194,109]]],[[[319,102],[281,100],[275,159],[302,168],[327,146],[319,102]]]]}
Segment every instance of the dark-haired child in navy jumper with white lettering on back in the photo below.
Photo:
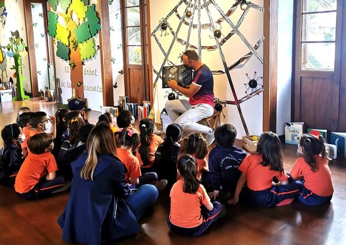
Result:
{"type": "Polygon", "coordinates": [[[216,199],[220,187],[224,193],[234,192],[238,179],[242,174],[238,167],[248,155],[243,149],[234,145],[237,130],[233,125],[223,124],[215,129],[215,144],[209,153],[209,174],[214,191],[208,193],[216,199]]]}

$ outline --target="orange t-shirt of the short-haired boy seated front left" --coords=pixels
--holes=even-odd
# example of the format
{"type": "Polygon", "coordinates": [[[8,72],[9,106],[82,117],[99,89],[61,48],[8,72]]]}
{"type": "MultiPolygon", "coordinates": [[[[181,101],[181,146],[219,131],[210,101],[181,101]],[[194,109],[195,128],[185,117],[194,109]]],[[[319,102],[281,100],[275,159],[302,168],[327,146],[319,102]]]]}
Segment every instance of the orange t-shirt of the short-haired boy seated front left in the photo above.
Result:
{"type": "Polygon", "coordinates": [[[47,174],[58,170],[54,156],[50,152],[33,154],[29,152],[19,169],[14,189],[18,193],[27,193],[47,174]]]}

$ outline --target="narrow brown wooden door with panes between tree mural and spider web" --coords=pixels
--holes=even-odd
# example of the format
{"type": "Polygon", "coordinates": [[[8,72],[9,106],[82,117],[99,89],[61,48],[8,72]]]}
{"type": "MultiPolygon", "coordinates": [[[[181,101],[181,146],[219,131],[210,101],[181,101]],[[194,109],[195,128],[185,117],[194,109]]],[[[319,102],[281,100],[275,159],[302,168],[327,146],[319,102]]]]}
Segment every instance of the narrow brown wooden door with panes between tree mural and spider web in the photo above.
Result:
{"type": "Polygon", "coordinates": [[[146,0],[125,0],[124,77],[129,102],[142,104],[150,101],[148,18],[146,0]]]}

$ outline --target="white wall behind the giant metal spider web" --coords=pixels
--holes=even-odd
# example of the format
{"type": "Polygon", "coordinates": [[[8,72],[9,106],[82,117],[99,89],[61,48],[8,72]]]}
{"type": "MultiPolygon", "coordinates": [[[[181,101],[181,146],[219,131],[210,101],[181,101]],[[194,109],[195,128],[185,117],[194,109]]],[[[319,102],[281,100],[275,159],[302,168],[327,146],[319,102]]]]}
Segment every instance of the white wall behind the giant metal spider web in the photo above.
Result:
{"type": "MultiPolygon", "coordinates": [[[[167,14],[174,8],[174,6],[179,1],[162,1],[162,0],[151,0],[150,1],[150,13],[151,13],[151,30],[153,31],[159,21],[166,17],[167,14]]],[[[203,1],[201,1],[203,2],[203,1]]],[[[219,4],[220,8],[223,12],[227,12],[230,6],[234,3],[234,1],[225,1],[225,0],[216,0],[217,4],[219,4]]],[[[263,0],[253,0],[255,4],[263,6],[263,0]]],[[[186,5],[183,3],[182,6],[178,8],[178,12],[180,15],[183,15],[185,11],[186,5]]],[[[209,5],[210,11],[213,16],[213,22],[215,22],[218,18],[220,18],[220,14],[213,7],[213,4],[209,5]]],[[[240,7],[230,16],[230,20],[233,23],[236,23],[240,18],[243,10],[240,7]]],[[[197,16],[197,11],[195,11],[195,16],[197,16]]],[[[173,14],[170,18],[168,18],[168,23],[172,26],[173,30],[177,30],[177,26],[179,24],[179,19],[173,14]]],[[[193,19],[193,23],[197,24],[197,18],[193,19]]],[[[209,18],[205,12],[205,9],[201,11],[201,24],[209,23],[209,18]]],[[[226,35],[230,32],[230,26],[223,21],[221,24],[221,32],[226,35]]],[[[250,9],[247,14],[245,20],[239,28],[239,31],[246,37],[249,43],[253,46],[257,40],[263,35],[263,12],[250,9]]],[[[188,27],[183,24],[178,37],[182,39],[187,39],[188,27]]],[[[167,52],[169,45],[172,41],[173,35],[162,35],[161,32],[158,31],[156,33],[157,38],[160,41],[163,49],[167,52]]],[[[213,33],[207,29],[201,31],[201,40],[202,45],[214,45],[215,40],[211,39],[209,36],[213,33]]],[[[190,34],[190,43],[198,44],[198,33],[197,30],[192,30],[190,34]]],[[[178,58],[179,54],[185,51],[185,45],[181,45],[178,42],[174,42],[172,51],[169,55],[169,60],[180,64],[180,59],[178,58]]],[[[239,38],[238,35],[233,35],[228,41],[222,46],[222,51],[225,56],[225,60],[227,66],[230,66],[232,63],[240,59],[243,55],[249,52],[249,48],[243,43],[243,41],[239,38]]],[[[263,45],[257,51],[261,57],[263,57],[263,45]]],[[[162,61],[164,59],[164,55],[159,49],[157,42],[152,37],[152,59],[154,69],[159,70],[162,61]]],[[[202,50],[201,60],[205,63],[211,70],[222,70],[222,60],[220,58],[219,51],[206,51],[202,50]]],[[[167,64],[165,64],[167,66],[167,64]]],[[[246,77],[245,73],[249,73],[250,76],[253,75],[253,72],[257,71],[259,76],[263,73],[263,65],[254,57],[250,58],[250,60],[243,66],[238,69],[231,70],[230,74],[233,80],[233,84],[236,90],[236,94],[238,99],[242,98],[246,95],[244,83],[247,83],[249,80],[246,77]]],[[[153,80],[155,81],[157,75],[153,74],[153,80]]],[[[262,83],[260,80],[259,82],[262,83]]],[[[214,94],[215,97],[220,98],[222,100],[234,100],[230,85],[228,83],[227,77],[225,74],[215,75],[214,76],[214,94]]],[[[265,88],[266,89],[266,88],[265,88]]],[[[154,108],[159,112],[165,102],[166,98],[163,98],[166,94],[166,91],[171,91],[170,89],[162,89],[161,80],[158,80],[158,97],[156,98],[156,104],[154,108]],[[157,108],[158,107],[158,108],[157,108]]],[[[243,115],[245,117],[245,121],[247,123],[249,133],[254,135],[259,135],[262,132],[262,117],[263,117],[263,98],[262,94],[258,96],[254,96],[250,100],[244,102],[240,105],[243,111],[243,115]]],[[[243,125],[240,120],[240,116],[238,110],[235,105],[227,105],[226,109],[223,110],[225,114],[225,118],[221,116],[221,123],[231,123],[233,124],[237,131],[237,138],[240,139],[243,135],[245,135],[245,131],[243,125]]],[[[159,113],[157,113],[159,114],[159,113]]],[[[158,120],[157,120],[158,121],[158,120]]]]}

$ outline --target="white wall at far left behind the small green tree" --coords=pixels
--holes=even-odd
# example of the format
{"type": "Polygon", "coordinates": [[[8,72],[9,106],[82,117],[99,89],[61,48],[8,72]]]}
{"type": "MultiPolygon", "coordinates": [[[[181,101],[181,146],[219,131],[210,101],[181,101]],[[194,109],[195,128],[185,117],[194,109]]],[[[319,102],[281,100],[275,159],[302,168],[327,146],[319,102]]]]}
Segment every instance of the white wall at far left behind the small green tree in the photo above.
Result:
{"type": "MultiPolygon", "coordinates": [[[[11,31],[15,32],[18,30],[19,36],[23,38],[24,43],[28,45],[27,34],[25,28],[25,19],[24,19],[24,10],[23,10],[23,0],[6,0],[5,7],[7,12],[6,24],[4,27],[0,24],[0,45],[6,46],[9,43],[9,37],[11,37],[11,31]]],[[[3,9],[0,8],[0,15],[2,14],[3,9]]],[[[3,49],[7,52],[7,49],[3,49]]],[[[13,58],[9,58],[6,55],[7,62],[7,78],[5,73],[4,81],[8,80],[10,76],[13,75],[14,70],[10,70],[12,66],[14,66],[13,58]]],[[[31,82],[30,82],[30,70],[29,70],[29,58],[28,55],[22,58],[22,73],[23,77],[27,78],[27,80],[23,81],[24,90],[31,92],[31,82]]],[[[0,71],[1,75],[1,71],[0,71]]],[[[14,81],[16,81],[14,79],[14,81]]]]}

